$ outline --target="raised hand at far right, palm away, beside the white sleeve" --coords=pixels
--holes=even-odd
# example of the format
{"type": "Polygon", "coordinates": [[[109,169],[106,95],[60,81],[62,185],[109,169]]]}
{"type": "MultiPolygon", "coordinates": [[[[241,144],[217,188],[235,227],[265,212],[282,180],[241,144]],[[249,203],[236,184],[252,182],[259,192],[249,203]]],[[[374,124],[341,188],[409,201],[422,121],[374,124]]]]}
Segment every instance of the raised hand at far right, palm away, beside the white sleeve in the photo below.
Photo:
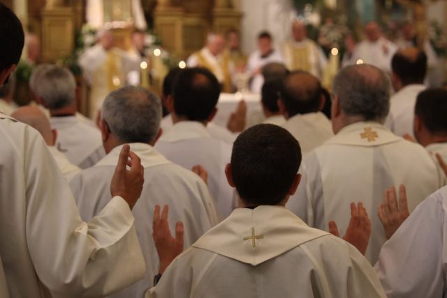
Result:
{"type": "Polygon", "coordinates": [[[406,190],[404,185],[399,187],[399,205],[397,205],[396,190],[394,187],[386,189],[383,193],[383,202],[379,205],[379,219],[385,230],[386,239],[390,239],[397,228],[409,217],[406,204],[406,190]]]}

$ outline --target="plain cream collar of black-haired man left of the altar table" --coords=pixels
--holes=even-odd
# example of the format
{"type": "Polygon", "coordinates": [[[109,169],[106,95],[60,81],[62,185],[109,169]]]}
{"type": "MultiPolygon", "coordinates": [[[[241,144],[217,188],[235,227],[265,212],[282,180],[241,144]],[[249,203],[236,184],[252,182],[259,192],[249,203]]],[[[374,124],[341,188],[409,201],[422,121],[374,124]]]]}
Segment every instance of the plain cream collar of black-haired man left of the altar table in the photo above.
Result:
{"type": "Polygon", "coordinates": [[[211,138],[205,125],[197,121],[180,121],[170,127],[166,133],[163,133],[160,141],[175,142],[201,138],[211,138]]]}

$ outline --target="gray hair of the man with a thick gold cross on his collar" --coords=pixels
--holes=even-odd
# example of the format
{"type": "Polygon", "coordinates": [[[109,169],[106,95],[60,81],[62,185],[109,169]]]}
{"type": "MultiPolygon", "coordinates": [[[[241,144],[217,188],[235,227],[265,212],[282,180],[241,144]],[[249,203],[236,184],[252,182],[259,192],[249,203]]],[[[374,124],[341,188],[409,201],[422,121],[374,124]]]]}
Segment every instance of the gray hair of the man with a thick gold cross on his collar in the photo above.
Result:
{"type": "Polygon", "coordinates": [[[390,79],[372,65],[351,65],[335,76],[333,93],[346,116],[383,123],[390,110],[390,79]]]}

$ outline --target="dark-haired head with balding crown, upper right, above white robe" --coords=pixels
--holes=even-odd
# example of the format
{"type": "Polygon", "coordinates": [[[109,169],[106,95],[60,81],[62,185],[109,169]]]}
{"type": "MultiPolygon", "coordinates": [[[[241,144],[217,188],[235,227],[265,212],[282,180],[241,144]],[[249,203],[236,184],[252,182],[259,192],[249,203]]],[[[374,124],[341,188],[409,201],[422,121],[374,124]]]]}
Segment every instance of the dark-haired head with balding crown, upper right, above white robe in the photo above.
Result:
{"type": "Polygon", "coordinates": [[[423,84],[427,74],[427,55],[416,47],[400,49],[391,60],[393,86],[399,90],[410,84],[423,84]],[[400,85],[400,86],[397,86],[400,85]]]}

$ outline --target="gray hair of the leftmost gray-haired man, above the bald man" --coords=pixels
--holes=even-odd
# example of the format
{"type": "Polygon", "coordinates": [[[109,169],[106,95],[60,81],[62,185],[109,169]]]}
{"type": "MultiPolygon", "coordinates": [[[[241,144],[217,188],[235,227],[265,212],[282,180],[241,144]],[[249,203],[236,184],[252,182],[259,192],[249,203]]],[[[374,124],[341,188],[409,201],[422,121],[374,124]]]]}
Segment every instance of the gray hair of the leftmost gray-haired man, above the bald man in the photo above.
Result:
{"type": "Polygon", "coordinates": [[[52,66],[39,75],[36,95],[41,97],[47,109],[61,109],[75,100],[76,81],[70,70],[52,66]]]}

